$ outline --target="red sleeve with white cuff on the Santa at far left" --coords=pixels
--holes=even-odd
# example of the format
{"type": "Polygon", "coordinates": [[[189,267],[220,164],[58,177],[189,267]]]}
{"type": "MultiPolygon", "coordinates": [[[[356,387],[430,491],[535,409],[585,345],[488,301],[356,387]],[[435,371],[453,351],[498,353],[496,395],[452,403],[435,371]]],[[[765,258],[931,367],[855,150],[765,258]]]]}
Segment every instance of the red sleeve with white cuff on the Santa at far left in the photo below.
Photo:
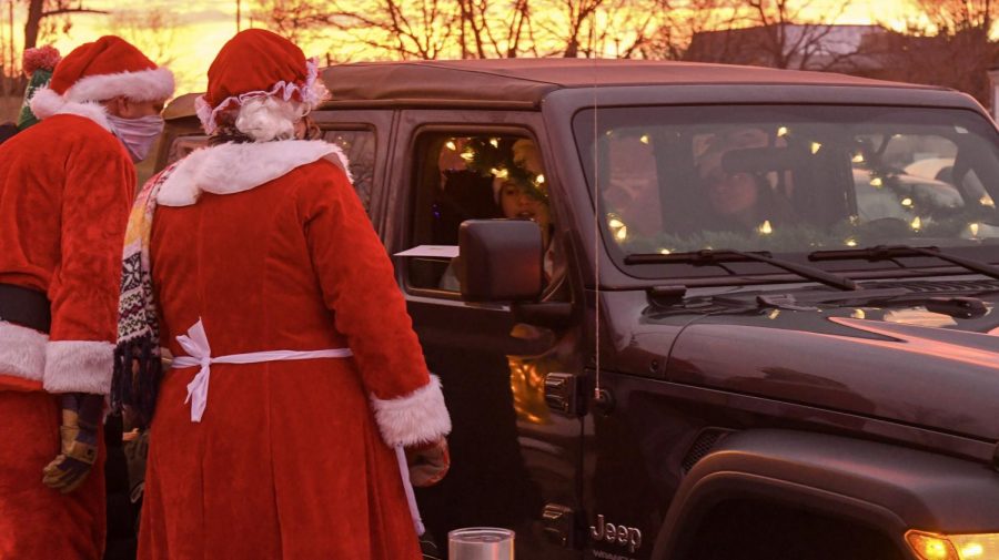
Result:
{"type": "Polygon", "coordinates": [[[60,264],[49,286],[52,328],[44,387],[107,395],[135,167],[113,138],[85,139],[65,165],[60,264]]]}

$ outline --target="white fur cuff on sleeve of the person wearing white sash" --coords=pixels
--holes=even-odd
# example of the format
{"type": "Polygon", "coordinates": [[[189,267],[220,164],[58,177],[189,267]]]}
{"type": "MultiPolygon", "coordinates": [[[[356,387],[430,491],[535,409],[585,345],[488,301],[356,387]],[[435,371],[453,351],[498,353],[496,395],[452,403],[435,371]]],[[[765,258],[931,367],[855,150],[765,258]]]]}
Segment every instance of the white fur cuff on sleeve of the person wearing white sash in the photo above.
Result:
{"type": "Polygon", "coordinates": [[[371,404],[382,438],[390,447],[434,441],[451,431],[451,416],[435,375],[408,395],[387,400],[372,396],[371,404]]]}

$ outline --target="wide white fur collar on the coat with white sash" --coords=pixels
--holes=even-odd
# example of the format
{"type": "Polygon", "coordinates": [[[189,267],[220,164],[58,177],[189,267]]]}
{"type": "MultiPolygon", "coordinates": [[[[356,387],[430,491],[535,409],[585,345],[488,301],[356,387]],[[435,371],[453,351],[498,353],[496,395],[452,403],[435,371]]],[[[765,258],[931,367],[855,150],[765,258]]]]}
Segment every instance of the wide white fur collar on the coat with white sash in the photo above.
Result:
{"type": "Polygon", "coordinates": [[[198,202],[201,193],[241,193],[323,157],[340,165],[350,179],[343,151],[322,140],[226,143],[203,147],[181,160],[160,187],[157,203],[190,206],[198,202]]]}

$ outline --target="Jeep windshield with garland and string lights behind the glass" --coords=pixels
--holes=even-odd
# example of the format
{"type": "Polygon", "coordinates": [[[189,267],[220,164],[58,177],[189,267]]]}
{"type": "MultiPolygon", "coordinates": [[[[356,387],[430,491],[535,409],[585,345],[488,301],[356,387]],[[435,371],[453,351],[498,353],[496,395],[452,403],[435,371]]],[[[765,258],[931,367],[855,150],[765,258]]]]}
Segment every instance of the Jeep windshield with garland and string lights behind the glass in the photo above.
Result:
{"type": "MultiPolygon", "coordinates": [[[[999,145],[992,123],[972,111],[612,108],[577,113],[574,133],[604,238],[637,276],[667,273],[627,255],[702,250],[807,262],[818,251],[906,245],[999,261],[999,145]]],[[[941,266],[932,258],[817,264],[941,266]]],[[[668,274],[677,273],[686,275],[668,274]]]]}

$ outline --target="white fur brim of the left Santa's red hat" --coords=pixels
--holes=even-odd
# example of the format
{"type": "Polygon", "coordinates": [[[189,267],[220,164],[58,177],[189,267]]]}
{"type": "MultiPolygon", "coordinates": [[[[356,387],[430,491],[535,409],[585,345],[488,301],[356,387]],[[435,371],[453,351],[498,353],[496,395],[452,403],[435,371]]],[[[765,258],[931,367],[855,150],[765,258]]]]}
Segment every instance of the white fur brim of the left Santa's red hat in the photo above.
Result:
{"type": "Polygon", "coordinates": [[[104,101],[123,95],[133,101],[167,101],[173,95],[173,72],[165,68],[88,75],[65,90],[67,101],[104,101]]]}

